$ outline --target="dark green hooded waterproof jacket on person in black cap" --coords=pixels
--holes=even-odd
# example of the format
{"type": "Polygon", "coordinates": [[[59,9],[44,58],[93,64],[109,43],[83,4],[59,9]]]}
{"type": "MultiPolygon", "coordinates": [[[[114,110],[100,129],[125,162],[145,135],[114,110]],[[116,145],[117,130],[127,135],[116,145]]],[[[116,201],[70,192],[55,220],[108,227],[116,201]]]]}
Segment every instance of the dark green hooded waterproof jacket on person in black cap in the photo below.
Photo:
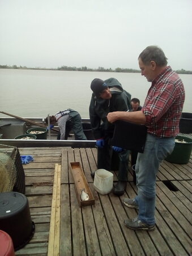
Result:
{"type": "Polygon", "coordinates": [[[110,88],[111,99],[103,100],[92,93],[89,105],[89,117],[95,139],[113,136],[114,125],[106,118],[109,112],[131,110],[131,95],[122,88],[120,82],[116,78],[109,78],[104,82],[110,88]]]}

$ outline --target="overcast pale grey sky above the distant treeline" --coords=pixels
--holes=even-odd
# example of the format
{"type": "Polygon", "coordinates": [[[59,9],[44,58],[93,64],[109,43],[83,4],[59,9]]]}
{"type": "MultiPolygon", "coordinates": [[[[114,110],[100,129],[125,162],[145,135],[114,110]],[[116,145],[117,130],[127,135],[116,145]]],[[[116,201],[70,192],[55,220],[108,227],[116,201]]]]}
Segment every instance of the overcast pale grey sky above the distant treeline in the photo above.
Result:
{"type": "Polygon", "coordinates": [[[0,65],[138,67],[158,45],[192,70],[191,0],[0,0],[0,65]]]}

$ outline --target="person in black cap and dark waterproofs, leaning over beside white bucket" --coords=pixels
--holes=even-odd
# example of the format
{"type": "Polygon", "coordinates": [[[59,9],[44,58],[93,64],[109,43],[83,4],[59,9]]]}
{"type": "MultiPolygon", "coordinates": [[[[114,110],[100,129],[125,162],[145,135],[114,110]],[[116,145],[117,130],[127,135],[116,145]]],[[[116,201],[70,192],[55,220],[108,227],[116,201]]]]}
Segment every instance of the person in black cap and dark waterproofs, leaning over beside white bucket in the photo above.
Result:
{"type": "MultiPolygon", "coordinates": [[[[91,128],[96,139],[97,168],[112,170],[113,150],[118,153],[120,160],[118,167],[118,182],[113,193],[122,195],[127,185],[129,151],[120,147],[112,147],[109,142],[113,138],[114,124],[109,123],[106,116],[109,112],[129,111],[131,109],[131,95],[126,92],[116,78],[101,80],[95,78],[91,82],[93,91],[89,105],[91,128]]],[[[95,176],[95,172],[91,173],[95,176]]]]}

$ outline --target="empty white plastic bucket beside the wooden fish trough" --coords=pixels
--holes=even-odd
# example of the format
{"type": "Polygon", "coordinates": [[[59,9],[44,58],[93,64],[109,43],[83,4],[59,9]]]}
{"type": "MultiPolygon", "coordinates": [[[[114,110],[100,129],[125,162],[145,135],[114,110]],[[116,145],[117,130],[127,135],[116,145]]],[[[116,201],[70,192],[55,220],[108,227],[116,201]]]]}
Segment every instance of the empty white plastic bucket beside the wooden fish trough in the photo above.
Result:
{"type": "Polygon", "coordinates": [[[113,173],[105,169],[96,170],[93,187],[101,195],[110,193],[113,189],[113,173]]]}

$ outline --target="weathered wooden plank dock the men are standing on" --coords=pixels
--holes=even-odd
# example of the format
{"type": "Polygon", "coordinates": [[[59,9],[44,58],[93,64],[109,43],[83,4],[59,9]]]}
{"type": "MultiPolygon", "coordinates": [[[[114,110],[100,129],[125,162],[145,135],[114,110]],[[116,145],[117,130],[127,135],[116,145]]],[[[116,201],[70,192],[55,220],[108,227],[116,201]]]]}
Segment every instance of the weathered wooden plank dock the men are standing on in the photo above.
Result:
{"type": "MultiPolygon", "coordinates": [[[[137,215],[122,200],[133,198],[136,186],[129,168],[126,194],[100,195],[93,189],[91,170],[96,170],[96,148],[19,148],[34,161],[23,165],[26,195],[35,234],[16,255],[48,254],[55,165],[61,165],[61,214],[59,254],[53,255],[192,255],[191,172],[188,164],[161,164],[156,182],[155,231],[132,231],[123,220],[137,215]],[[69,163],[79,162],[95,198],[95,205],[79,207],[69,163]],[[171,182],[171,183],[170,183],[171,182]],[[177,191],[174,191],[177,190],[177,191]]],[[[117,173],[114,181],[117,181],[117,173]]]]}

